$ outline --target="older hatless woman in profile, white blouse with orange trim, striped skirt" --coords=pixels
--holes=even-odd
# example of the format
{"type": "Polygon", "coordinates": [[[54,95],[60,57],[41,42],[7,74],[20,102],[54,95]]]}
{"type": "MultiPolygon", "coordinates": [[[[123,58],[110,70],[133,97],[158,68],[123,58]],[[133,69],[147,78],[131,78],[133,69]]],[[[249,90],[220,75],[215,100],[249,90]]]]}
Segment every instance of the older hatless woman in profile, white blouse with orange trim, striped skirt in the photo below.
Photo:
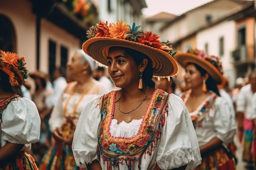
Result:
{"type": "Polygon", "coordinates": [[[71,145],[79,116],[84,106],[96,95],[108,92],[107,88],[92,78],[95,62],[78,49],[67,62],[68,74],[73,82],[67,84],[49,119],[54,141],[45,154],[40,170],[77,169],[71,145]]]}

